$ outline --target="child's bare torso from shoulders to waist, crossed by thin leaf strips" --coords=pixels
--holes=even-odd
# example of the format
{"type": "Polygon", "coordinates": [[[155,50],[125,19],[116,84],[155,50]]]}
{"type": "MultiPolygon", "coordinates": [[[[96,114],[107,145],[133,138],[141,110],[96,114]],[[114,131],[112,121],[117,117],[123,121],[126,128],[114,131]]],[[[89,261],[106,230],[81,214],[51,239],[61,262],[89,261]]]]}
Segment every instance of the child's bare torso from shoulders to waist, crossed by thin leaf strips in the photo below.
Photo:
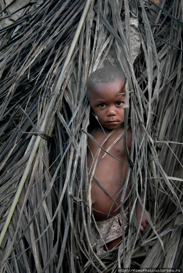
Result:
{"type": "MultiPolygon", "coordinates": [[[[123,132],[122,128],[119,128],[114,132],[103,144],[105,139],[105,134],[101,130],[93,130],[91,135],[102,146],[107,150],[116,138],[123,132]]],[[[106,192],[112,197],[113,200],[101,189],[101,187],[96,182],[96,179],[92,179],[92,209],[96,220],[106,219],[112,215],[116,215],[120,212],[120,200],[123,192],[123,186],[125,184],[128,166],[122,162],[128,164],[126,158],[126,151],[123,146],[123,136],[109,149],[109,153],[119,159],[113,158],[111,155],[105,154],[105,152],[99,148],[99,146],[94,143],[91,139],[88,139],[88,168],[90,173],[88,180],[90,183],[91,173],[94,170],[94,176],[106,192]],[[92,158],[94,157],[94,160],[92,158]],[[103,157],[103,158],[102,158],[103,157]],[[96,165],[95,165],[96,162],[96,165]],[[98,212],[99,211],[99,212],[98,212]]],[[[126,190],[125,197],[129,193],[129,186],[126,190]]]]}

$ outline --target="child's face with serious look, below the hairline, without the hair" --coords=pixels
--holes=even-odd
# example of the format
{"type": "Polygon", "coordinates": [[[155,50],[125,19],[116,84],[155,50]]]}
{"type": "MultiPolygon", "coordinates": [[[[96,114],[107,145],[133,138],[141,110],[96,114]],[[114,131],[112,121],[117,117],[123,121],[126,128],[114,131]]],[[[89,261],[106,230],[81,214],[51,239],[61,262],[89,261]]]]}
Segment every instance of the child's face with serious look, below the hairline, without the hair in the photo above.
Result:
{"type": "Polygon", "coordinates": [[[125,104],[123,93],[125,93],[125,82],[120,78],[112,83],[100,84],[92,88],[89,101],[102,127],[113,130],[123,124],[125,104]]]}

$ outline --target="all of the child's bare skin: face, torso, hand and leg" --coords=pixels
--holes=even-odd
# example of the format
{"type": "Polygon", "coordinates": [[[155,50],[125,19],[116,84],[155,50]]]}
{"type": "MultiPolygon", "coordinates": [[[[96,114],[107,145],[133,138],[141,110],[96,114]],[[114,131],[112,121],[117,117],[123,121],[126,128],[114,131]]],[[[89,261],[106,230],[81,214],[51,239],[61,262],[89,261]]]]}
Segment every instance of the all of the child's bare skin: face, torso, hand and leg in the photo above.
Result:
{"type": "MultiPolygon", "coordinates": [[[[100,84],[92,88],[89,96],[93,113],[98,118],[96,126],[93,128],[91,135],[95,141],[107,150],[116,138],[123,132],[124,123],[124,103],[125,103],[125,83],[122,79],[116,79],[112,83],[100,84]],[[115,131],[113,131],[115,130],[115,131]],[[113,133],[105,141],[106,136],[113,133]]],[[[127,147],[131,148],[132,131],[127,131],[127,147]]],[[[111,155],[98,147],[98,145],[88,138],[88,168],[89,183],[92,183],[91,198],[92,210],[97,221],[108,219],[120,210],[120,200],[125,185],[128,160],[126,151],[123,146],[123,136],[109,149],[111,155]],[[115,158],[114,158],[115,157],[115,158]],[[95,162],[97,164],[95,164],[95,162]],[[124,164],[125,163],[125,164],[124,164]],[[95,167],[94,167],[95,166],[95,167]],[[95,168],[95,170],[94,170],[95,168]],[[93,171],[94,170],[94,171],[93,171]],[[93,178],[91,174],[93,172],[93,178]],[[110,198],[98,185],[98,182],[107,191],[110,198]]],[[[125,199],[129,193],[130,185],[128,185],[125,193],[125,199]]],[[[124,208],[126,204],[124,204],[124,208]]],[[[137,219],[140,222],[142,208],[139,203],[136,206],[137,219]]],[[[143,230],[148,224],[147,218],[143,215],[141,223],[143,230]]],[[[107,244],[108,249],[115,247],[121,237],[107,244]]]]}

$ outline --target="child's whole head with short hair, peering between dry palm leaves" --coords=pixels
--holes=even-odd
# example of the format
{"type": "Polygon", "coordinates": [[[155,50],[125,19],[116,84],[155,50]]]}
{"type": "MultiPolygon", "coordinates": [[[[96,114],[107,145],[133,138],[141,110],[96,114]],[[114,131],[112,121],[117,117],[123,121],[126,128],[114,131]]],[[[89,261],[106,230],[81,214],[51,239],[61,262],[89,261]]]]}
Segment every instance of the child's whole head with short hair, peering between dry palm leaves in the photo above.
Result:
{"type": "Polygon", "coordinates": [[[112,67],[95,70],[87,80],[87,96],[100,124],[109,130],[124,122],[125,76],[112,67]]]}

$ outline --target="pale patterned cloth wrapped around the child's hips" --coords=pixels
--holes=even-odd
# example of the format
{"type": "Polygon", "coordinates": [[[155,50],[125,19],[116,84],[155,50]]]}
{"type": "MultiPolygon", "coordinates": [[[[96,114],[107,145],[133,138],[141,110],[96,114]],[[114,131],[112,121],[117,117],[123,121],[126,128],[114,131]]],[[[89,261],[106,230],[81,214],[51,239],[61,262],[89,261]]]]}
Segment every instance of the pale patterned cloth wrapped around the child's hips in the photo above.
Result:
{"type": "MultiPolygon", "coordinates": [[[[127,206],[124,210],[125,224],[128,223],[128,211],[129,206],[127,206]]],[[[95,224],[92,223],[91,244],[94,245],[93,250],[97,253],[97,255],[102,255],[103,253],[105,253],[104,245],[121,237],[123,234],[121,213],[116,214],[108,220],[98,221],[96,222],[96,224],[98,229],[95,224]]],[[[127,225],[124,226],[124,231],[126,231],[126,229],[127,225]]]]}

